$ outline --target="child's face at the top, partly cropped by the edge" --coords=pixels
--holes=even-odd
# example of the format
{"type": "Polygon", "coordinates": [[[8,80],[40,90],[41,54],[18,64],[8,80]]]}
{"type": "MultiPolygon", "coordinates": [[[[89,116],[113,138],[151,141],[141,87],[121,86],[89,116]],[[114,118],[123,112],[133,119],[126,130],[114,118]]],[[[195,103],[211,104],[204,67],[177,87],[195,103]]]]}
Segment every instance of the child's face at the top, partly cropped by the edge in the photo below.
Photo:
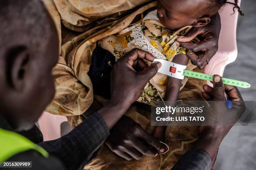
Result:
{"type": "Polygon", "coordinates": [[[166,28],[177,30],[197,23],[208,0],[158,0],[157,17],[166,28]],[[201,11],[201,12],[199,12],[201,11]]]}

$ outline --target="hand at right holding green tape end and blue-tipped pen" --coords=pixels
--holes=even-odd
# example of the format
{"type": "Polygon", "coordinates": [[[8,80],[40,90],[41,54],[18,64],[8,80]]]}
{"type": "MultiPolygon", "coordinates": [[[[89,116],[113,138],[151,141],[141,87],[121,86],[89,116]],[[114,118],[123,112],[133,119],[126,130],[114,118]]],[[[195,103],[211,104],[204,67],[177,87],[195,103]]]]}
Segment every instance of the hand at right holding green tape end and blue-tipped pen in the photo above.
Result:
{"type": "MultiPolygon", "coordinates": [[[[232,127],[245,110],[243,98],[237,87],[224,85],[222,78],[219,75],[215,75],[213,87],[204,85],[203,89],[205,92],[202,93],[202,96],[205,100],[212,100],[210,109],[207,111],[206,125],[232,127]],[[225,93],[232,102],[231,109],[225,104],[225,93]]],[[[213,126],[213,128],[215,127],[213,126]]]]}

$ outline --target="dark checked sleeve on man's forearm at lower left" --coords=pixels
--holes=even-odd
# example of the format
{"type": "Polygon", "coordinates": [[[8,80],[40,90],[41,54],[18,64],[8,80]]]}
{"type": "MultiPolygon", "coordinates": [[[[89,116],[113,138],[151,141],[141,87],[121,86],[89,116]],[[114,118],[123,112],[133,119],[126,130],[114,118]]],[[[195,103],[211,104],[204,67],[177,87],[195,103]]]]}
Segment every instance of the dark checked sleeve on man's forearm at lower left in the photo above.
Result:
{"type": "Polygon", "coordinates": [[[39,145],[59,158],[68,170],[77,170],[90,160],[109,135],[105,121],[95,112],[67,135],[39,145]]]}

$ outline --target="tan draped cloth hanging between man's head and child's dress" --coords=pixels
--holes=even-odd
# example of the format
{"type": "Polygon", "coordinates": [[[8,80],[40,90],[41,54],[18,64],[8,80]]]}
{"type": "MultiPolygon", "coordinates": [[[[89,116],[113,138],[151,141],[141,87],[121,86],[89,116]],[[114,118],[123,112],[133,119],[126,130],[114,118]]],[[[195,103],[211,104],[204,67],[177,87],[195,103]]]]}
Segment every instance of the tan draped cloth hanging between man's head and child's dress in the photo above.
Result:
{"type": "Polygon", "coordinates": [[[56,94],[46,111],[72,116],[68,119],[74,127],[82,121],[79,115],[84,113],[93,101],[93,87],[87,72],[97,40],[128,27],[137,15],[140,16],[155,7],[156,2],[136,7],[147,1],[121,0],[120,4],[116,4],[114,0],[79,0],[80,7],[82,4],[85,5],[84,8],[90,6],[90,13],[87,10],[77,10],[78,6],[72,5],[71,2],[74,1],[44,0],[54,19],[60,40],[59,62],[53,70],[56,94]],[[102,7],[102,3],[108,4],[110,8],[102,7]],[[106,17],[102,22],[105,15],[110,17],[106,17]],[[114,19],[113,15],[117,17],[114,19]],[[87,28],[91,24],[94,27],[87,28]]]}

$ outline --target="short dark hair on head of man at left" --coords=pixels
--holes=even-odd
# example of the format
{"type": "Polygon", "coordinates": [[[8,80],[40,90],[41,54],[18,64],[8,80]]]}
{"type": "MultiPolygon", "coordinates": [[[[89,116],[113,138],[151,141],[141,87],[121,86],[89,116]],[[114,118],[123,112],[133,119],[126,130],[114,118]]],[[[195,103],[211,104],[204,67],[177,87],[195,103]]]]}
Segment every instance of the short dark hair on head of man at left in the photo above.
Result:
{"type": "Polygon", "coordinates": [[[41,0],[0,0],[0,54],[15,44],[44,53],[53,33],[49,18],[41,0]]]}

